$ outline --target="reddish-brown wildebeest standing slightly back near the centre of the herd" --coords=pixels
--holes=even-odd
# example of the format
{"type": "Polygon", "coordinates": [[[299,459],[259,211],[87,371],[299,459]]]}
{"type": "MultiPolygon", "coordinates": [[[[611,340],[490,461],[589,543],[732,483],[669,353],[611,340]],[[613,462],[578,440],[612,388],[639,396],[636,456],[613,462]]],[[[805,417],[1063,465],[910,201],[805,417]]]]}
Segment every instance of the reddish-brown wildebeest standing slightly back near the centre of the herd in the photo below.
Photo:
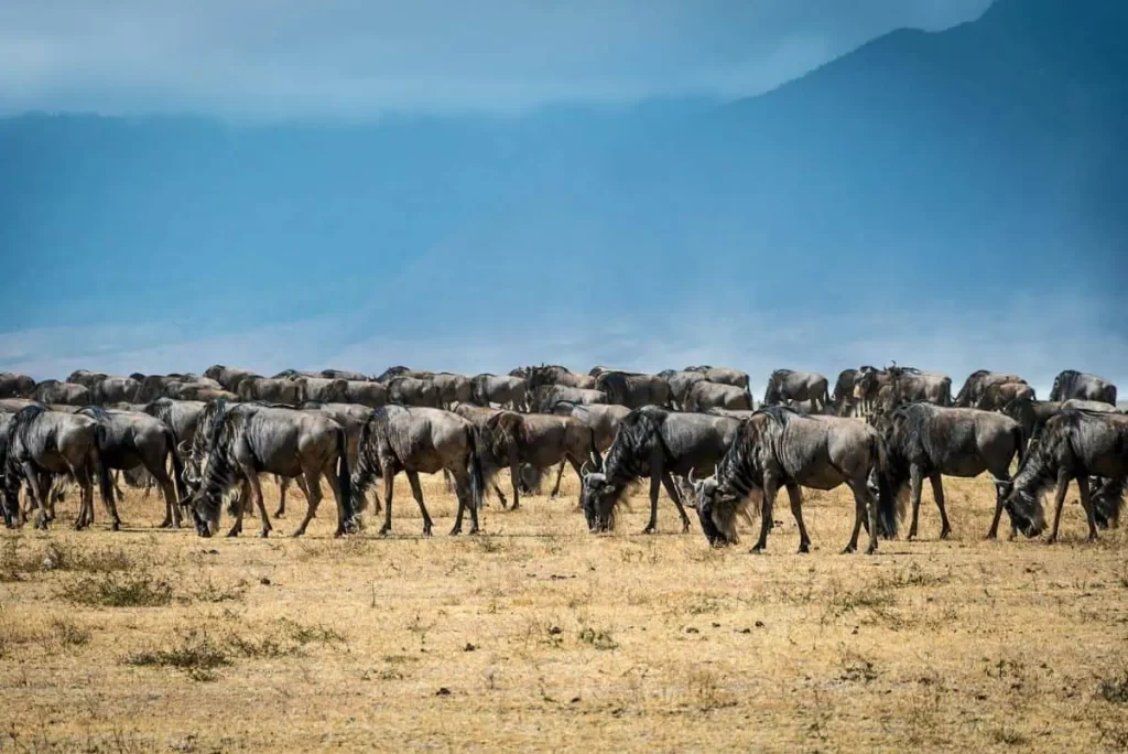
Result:
{"type": "Polygon", "coordinates": [[[594,448],[594,432],[590,427],[572,417],[556,414],[501,411],[486,420],[482,438],[492,461],[491,465],[509,466],[513,480],[514,510],[521,505],[518,490],[521,464],[537,470],[559,464],[552,491],[552,497],[556,497],[559,493],[564,463],[572,464],[576,476],[582,481],[580,470],[591,461],[594,448]]]}

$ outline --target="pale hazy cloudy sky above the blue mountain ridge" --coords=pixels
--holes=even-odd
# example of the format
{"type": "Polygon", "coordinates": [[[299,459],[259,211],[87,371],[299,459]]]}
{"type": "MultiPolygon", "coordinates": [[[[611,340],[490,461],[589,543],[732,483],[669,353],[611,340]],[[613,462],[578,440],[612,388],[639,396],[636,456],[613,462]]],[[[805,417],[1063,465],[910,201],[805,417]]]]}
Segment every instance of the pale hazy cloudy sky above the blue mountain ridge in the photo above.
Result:
{"type": "Polygon", "coordinates": [[[0,108],[236,117],[527,108],[769,89],[989,0],[0,3],[0,108]]]}

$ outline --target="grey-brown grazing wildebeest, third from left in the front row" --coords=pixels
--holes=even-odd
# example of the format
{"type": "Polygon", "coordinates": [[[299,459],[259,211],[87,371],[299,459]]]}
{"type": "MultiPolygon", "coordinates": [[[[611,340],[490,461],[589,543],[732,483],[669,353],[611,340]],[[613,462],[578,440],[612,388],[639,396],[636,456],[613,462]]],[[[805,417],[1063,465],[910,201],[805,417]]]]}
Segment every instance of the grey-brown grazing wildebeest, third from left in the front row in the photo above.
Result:
{"type": "Polygon", "coordinates": [[[236,506],[236,521],[228,536],[237,536],[243,531],[243,516],[248,508],[247,488],[258,507],[259,536],[270,534],[272,527],[258,483],[259,473],[305,480],[309,507],[293,536],[305,534],[317,514],[321,501],[320,482],[325,476],[337,502],[336,535],[345,533],[346,523],[352,518],[349,439],[344,428],[328,415],[261,404],[215,404],[214,410],[209,406],[204,411],[196,431],[197,440],[205,430],[208,461],[191,497],[196,532],[201,536],[219,531],[222,494],[238,483],[244,486],[244,497],[241,505],[236,506]]]}

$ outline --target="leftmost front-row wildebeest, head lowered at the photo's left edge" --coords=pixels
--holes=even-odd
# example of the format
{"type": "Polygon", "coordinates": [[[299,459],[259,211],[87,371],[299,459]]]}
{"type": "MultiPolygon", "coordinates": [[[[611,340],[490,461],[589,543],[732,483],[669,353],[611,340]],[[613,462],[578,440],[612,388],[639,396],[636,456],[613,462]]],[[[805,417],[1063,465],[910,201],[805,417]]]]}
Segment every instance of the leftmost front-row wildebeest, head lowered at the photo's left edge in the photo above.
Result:
{"type": "Polygon", "coordinates": [[[19,488],[26,482],[38,506],[36,528],[47,526],[47,494],[51,476],[69,474],[81,489],[74,528],[94,524],[91,476],[98,474],[102,501],[109,511],[112,528],[121,528],[114,503],[109,470],[98,455],[98,435],[104,430],[89,417],[50,411],[33,405],[15,414],[8,426],[5,459],[5,502],[11,512],[19,509],[19,488]]]}

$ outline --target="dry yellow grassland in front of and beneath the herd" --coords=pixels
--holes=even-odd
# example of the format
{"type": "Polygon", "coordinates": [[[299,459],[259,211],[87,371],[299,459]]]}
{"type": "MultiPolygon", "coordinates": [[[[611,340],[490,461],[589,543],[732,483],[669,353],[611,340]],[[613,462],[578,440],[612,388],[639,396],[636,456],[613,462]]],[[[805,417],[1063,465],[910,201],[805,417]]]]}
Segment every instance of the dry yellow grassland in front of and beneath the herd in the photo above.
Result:
{"type": "Polygon", "coordinates": [[[386,540],[326,506],[205,541],[133,491],[122,533],[100,503],[5,533],[0,749],[1128,749],[1128,540],[1082,543],[1075,493],[1061,544],[993,543],[990,483],[949,480],[954,538],[926,493],[924,541],[871,558],[838,554],[846,493],[808,492],[816,551],[784,506],[750,555],[664,498],[659,535],[640,497],[589,535],[570,481],[477,537],[437,479],[432,540],[404,482],[386,540]]]}

